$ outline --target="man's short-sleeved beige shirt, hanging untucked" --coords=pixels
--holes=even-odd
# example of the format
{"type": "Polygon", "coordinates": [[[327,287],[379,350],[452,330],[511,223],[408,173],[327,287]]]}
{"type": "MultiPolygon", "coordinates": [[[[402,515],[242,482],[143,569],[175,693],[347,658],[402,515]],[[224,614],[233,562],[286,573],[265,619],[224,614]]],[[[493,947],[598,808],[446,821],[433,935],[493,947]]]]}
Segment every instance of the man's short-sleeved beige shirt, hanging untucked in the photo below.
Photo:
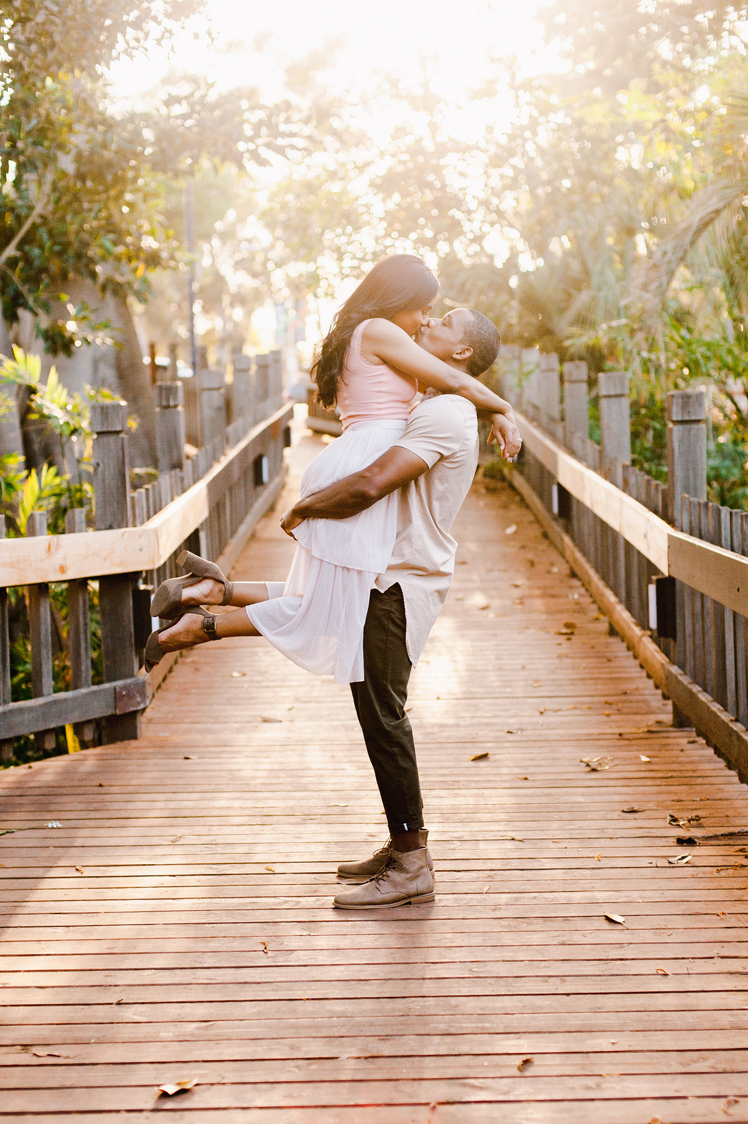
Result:
{"type": "Polygon", "coordinates": [[[398,492],[397,537],[375,588],[385,592],[399,583],[415,665],[452,583],[457,542],[450,531],[478,465],[476,408],[458,395],[422,401],[396,444],[425,461],[429,471],[398,492]]]}

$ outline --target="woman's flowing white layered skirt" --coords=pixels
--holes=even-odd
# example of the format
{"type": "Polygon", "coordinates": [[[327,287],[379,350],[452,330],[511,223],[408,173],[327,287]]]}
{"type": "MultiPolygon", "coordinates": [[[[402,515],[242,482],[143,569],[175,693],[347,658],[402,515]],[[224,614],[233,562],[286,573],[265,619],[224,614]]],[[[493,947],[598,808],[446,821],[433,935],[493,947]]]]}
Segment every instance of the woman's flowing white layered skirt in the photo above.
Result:
{"type": "MultiPolygon", "coordinates": [[[[368,468],[403,436],[405,422],[358,422],[327,445],[301,477],[301,498],[368,468]]],[[[281,596],[246,614],[265,640],[300,668],[339,683],[363,679],[363,625],[369,593],[387,569],[397,535],[393,492],[349,519],[305,519],[281,596]]]]}

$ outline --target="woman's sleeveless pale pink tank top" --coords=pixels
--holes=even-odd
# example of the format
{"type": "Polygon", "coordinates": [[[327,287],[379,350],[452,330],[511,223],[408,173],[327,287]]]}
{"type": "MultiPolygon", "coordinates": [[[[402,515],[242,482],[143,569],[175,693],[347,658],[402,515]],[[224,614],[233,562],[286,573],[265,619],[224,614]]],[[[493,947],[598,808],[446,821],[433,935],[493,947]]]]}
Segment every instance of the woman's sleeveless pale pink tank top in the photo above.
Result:
{"type": "Polygon", "coordinates": [[[354,422],[380,418],[406,422],[408,402],[418,389],[414,378],[393,371],[386,363],[367,363],[361,359],[361,336],[369,320],[363,320],[353,330],[337,388],[337,406],[344,429],[354,422]]]}

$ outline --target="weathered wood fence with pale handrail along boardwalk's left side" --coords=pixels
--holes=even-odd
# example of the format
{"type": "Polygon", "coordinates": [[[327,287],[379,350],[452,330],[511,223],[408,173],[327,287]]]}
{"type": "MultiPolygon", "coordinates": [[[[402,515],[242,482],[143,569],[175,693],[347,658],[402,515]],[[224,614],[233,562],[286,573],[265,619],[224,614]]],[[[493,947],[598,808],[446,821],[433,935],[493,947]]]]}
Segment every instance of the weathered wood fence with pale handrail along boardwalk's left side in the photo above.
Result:
{"type": "MultiPolygon", "coordinates": [[[[213,375],[213,372],[204,372],[213,375]]],[[[222,375],[223,380],[223,375],[222,375]]],[[[85,514],[69,510],[64,535],[48,535],[46,514],[30,515],[25,538],[6,538],[0,523],[0,751],[34,734],[46,750],[55,729],[72,725],[83,744],[99,722],[105,742],[139,736],[151,698],[143,649],[153,627],[154,588],[179,571],[183,549],[217,560],[229,542],[243,541],[280,492],[283,448],[290,444],[292,406],[282,405],[280,365],[256,356],[234,363],[232,404],[211,379],[157,383],[159,478],[130,490],[127,407],[91,407],[96,529],[85,514]],[[192,384],[193,383],[193,384],[192,384]],[[192,396],[191,425],[209,439],[184,452],[184,389],[192,396]],[[227,424],[228,422],[228,424],[227,424]],[[103,682],[91,683],[89,582],[98,583],[103,682]],[[53,692],[49,586],[67,589],[71,690],[53,692]],[[33,699],[13,701],[10,682],[8,589],[26,588],[33,699]],[[139,673],[138,673],[138,669],[139,673]]],[[[195,432],[195,430],[193,430],[195,432]]]]}

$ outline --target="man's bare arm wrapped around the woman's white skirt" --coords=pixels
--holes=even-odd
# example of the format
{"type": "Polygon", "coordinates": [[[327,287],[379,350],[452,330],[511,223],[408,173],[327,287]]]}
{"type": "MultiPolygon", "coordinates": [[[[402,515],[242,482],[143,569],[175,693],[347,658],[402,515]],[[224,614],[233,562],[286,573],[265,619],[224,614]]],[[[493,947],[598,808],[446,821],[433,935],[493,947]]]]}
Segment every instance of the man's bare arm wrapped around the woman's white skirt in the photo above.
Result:
{"type": "Polygon", "coordinates": [[[330,488],[300,499],[286,513],[280,525],[290,535],[303,519],[348,519],[427,471],[426,462],[415,453],[393,445],[361,472],[336,480],[330,488]]]}

